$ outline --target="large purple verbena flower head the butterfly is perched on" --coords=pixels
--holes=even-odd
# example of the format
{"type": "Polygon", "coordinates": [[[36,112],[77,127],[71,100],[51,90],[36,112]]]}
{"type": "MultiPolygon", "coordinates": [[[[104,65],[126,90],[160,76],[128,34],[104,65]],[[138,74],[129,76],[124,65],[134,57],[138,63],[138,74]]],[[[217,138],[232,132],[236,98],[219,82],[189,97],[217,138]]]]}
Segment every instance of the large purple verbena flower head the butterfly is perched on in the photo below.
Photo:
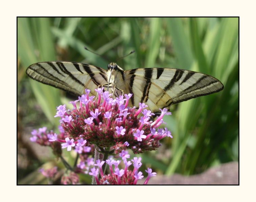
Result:
{"type": "MultiPolygon", "coordinates": [[[[71,150],[75,145],[90,143],[100,149],[114,149],[114,154],[129,148],[136,154],[156,150],[161,145],[160,139],[172,137],[167,128],[158,129],[163,116],[170,114],[167,109],[161,110],[161,115],[153,122],[149,119],[154,114],[144,103],[139,103],[138,110],[128,107],[132,94],[113,99],[107,91],[100,88],[95,91],[98,93],[96,99],[89,97],[90,90],[86,89],[86,94],[71,102],[72,110],[66,110],[65,105],[57,107],[56,116],[61,118],[66,140],[62,140],[63,148],[71,150]]],[[[56,137],[51,136],[51,139],[56,137]]]]}

